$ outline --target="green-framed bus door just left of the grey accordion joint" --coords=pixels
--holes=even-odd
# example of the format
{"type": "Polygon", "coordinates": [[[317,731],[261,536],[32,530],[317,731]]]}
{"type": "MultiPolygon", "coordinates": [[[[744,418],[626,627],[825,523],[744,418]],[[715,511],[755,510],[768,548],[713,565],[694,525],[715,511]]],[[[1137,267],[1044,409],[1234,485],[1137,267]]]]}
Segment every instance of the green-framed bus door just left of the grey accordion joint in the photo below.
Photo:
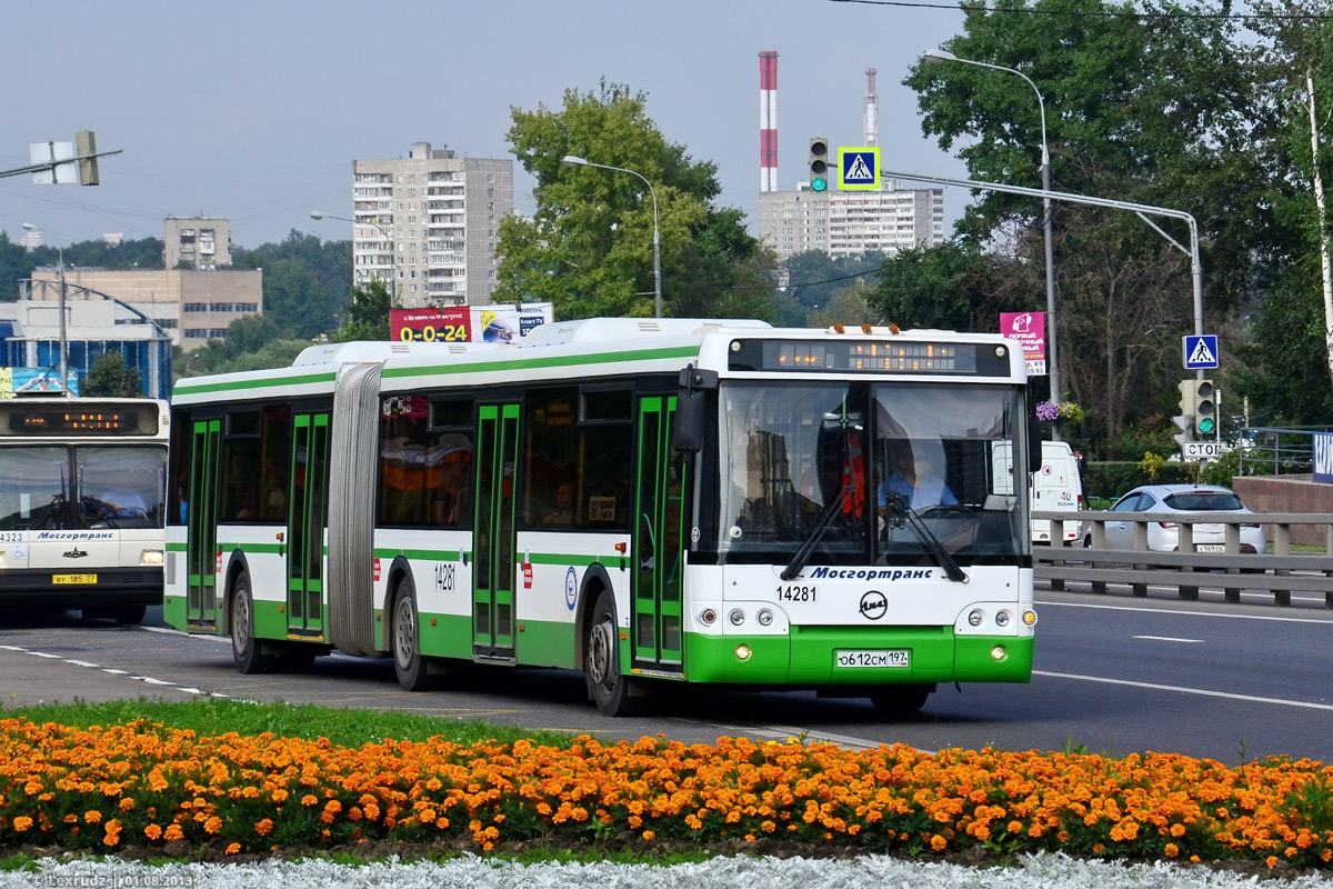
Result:
{"type": "Polygon", "coordinates": [[[324,638],[324,525],[328,502],[329,416],[292,419],[287,498],[287,636],[324,638]]]}

